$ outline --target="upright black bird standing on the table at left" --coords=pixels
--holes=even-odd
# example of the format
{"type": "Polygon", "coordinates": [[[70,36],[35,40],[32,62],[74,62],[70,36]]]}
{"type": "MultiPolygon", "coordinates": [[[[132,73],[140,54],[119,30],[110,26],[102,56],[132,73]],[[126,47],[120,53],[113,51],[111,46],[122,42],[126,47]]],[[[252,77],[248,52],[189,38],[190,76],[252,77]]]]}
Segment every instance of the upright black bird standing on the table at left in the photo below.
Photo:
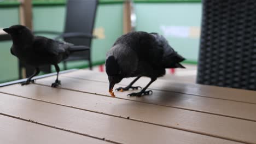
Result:
{"type": "Polygon", "coordinates": [[[53,64],[57,71],[57,78],[51,87],[61,85],[59,77],[60,68],[58,63],[66,59],[70,53],[88,50],[88,47],[74,46],[73,44],[57,41],[45,37],[35,36],[30,29],[22,25],[14,25],[4,28],[3,31],[10,34],[13,40],[10,52],[18,57],[21,62],[36,68],[33,75],[21,85],[28,85],[33,82],[32,77],[39,74],[39,67],[53,64]]]}

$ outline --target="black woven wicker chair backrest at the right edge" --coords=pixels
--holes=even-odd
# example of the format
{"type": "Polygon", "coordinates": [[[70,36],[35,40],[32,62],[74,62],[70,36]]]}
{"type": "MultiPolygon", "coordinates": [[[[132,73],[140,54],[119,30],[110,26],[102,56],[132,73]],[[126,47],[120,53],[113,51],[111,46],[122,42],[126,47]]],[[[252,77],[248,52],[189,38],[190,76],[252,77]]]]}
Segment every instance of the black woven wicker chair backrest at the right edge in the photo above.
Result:
{"type": "Polygon", "coordinates": [[[256,1],[202,4],[197,83],[256,90],[256,1]]]}

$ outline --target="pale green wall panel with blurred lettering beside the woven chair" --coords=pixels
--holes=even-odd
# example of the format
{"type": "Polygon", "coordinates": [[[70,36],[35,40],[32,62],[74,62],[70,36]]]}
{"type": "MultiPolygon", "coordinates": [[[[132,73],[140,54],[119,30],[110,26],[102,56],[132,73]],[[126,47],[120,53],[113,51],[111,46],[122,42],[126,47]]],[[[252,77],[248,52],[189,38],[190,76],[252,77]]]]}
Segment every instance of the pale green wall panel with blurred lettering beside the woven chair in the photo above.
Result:
{"type": "Polygon", "coordinates": [[[137,3],[136,31],[158,32],[189,62],[199,53],[201,3],[137,3]]]}

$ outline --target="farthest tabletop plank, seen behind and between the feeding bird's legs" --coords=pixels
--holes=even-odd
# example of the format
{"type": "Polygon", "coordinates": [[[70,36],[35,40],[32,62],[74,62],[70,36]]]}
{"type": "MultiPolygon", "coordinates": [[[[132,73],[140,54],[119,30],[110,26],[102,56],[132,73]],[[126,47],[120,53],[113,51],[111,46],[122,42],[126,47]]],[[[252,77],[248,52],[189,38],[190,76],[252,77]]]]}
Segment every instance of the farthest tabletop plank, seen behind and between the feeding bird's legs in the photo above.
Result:
{"type": "MultiPolygon", "coordinates": [[[[71,76],[71,77],[77,77],[78,79],[108,82],[106,73],[100,73],[100,72],[89,71],[89,70],[76,70],[76,71],[72,71],[71,73],[63,74],[63,76],[71,76]]],[[[123,79],[120,82],[120,84],[126,86],[133,79],[134,78],[123,79]]],[[[142,77],[134,85],[144,87],[147,85],[148,82],[149,82],[148,78],[142,77]]],[[[206,85],[199,85],[195,83],[179,83],[175,81],[169,81],[169,80],[166,81],[166,80],[159,80],[159,79],[153,82],[152,85],[149,86],[149,88],[158,89],[162,91],[165,90],[165,91],[185,93],[185,94],[194,94],[194,95],[200,95],[203,97],[235,100],[235,101],[242,101],[246,103],[256,104],[256,92],[248,91],[244,89],[206,86],[206,85]]]]}

